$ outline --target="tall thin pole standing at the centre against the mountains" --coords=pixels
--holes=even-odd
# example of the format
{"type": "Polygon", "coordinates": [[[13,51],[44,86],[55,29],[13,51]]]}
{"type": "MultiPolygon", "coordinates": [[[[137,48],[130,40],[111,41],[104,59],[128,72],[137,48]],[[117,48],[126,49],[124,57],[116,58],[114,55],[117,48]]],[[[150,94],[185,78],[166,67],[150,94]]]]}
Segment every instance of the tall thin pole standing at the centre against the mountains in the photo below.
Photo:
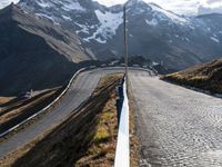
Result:
{"type": "Polygon", "coordinates": [[[124,24],[124,63],[125,63],[125,81],[128,84],[128,31],[127,31],[127,6],[123,7],[123,24],[124,24]]]}

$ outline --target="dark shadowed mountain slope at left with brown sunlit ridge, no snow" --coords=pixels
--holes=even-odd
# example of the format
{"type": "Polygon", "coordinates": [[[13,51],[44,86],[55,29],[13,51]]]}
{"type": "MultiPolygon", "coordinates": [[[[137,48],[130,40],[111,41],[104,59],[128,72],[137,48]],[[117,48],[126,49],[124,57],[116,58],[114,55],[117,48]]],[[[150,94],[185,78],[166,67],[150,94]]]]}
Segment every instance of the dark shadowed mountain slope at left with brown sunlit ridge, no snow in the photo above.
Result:
{"type": "Polygon", "coordinates": [[[95,59],[79,37],[14,4],[0,10],[0,96],[64,84],[77,63],[95,59]]]}

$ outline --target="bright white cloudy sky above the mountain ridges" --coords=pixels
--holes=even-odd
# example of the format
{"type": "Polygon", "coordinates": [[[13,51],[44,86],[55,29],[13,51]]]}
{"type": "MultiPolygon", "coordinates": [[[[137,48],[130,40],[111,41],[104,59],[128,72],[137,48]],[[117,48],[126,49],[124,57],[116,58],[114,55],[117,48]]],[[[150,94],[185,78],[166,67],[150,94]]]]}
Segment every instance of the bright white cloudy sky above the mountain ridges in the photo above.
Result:
{"type": "MultiPolygon", "coordinates": [[[[8,6],[11,1],[19,0],[0,0],[0,8],[8,6]]],[[[113,6],[117,3],[124,3],[127,0],[97,0],[105,6],[113,6]]],[[[154,2],[164,9],[171,10],[180,14],[202,14],[211,12],[222,13],[222,0],[144,0],[147,2],[154,2]]]]}

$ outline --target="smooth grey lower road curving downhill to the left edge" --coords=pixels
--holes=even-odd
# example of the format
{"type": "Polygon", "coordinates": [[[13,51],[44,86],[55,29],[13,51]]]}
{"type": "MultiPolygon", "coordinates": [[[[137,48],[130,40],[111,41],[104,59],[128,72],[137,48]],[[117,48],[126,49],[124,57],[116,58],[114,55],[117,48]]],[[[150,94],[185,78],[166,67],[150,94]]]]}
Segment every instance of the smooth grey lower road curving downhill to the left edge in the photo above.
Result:
{"type": "Polygon", "coordinates": [[[16,150],[17,148],[30,143],[44,130],[60,124],[74,109],[77,109],[87,98],[90,97],[102,76],[107,73],[120,72],[122,69],[94,69],[82,72],[78,76],[71,86],[68,95],[52,111],[48,112],[43,118],[30,125],[26,129],[19,131],[12,138],[0,144],[0,158],[16,150]]]}

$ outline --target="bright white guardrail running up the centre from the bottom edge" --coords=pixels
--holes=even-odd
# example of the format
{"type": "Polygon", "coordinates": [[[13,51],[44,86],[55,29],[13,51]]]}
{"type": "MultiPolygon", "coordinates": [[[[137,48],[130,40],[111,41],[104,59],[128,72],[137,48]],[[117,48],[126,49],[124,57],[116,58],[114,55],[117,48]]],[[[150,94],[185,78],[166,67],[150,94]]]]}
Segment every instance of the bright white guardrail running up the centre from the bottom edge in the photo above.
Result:
{"type": "Polygon", "coordinates": [[[130,167],[130,111],[127,94],[127,84],[123,84],[123,104],[120,114],[118,145],[115,150],[114,167],[130,167]]]}

